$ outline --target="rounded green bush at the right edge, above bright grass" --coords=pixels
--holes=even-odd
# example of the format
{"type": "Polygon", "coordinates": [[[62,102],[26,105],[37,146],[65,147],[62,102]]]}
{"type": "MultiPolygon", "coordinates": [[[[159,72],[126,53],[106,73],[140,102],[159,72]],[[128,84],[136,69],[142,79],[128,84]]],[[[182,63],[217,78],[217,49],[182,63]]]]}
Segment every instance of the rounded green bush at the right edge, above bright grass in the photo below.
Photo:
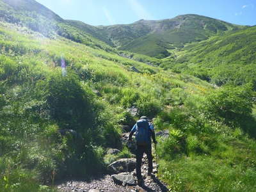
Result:
{"type": "Polygon", "coordinates": [[[223,120],[228,125],[241,125],[245,116],[252,114],[252,87],[225,86],[207,96],[203,106],[205,113],[223,120]]]}

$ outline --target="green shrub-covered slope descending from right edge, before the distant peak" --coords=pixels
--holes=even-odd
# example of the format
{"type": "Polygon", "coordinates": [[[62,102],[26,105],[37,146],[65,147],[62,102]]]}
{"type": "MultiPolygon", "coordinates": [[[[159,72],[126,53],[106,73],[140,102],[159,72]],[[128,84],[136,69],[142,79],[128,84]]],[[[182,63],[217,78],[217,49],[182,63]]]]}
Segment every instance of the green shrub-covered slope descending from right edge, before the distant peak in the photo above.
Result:
{"type": "Polygon", "coordinates": [[[218,85],[252,81],[255,86],[256,28],[248,27],[173,51],[163,62],[218,85]]]}

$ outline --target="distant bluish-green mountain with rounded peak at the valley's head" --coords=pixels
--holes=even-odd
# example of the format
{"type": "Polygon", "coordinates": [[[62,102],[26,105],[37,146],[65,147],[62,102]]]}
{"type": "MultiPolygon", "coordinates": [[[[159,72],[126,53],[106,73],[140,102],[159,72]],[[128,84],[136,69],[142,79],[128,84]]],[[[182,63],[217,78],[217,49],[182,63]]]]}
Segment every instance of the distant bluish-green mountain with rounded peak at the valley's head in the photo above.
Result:
{"type": "Polygon", "coordinates": [[[169,56],[168,49],[205,40],[226,31],[241,28],[200,15],[179,15],[165,20],[139,20],[133,24],[101,26],[109,39],[121,50],[157,58],[169,56]]]}

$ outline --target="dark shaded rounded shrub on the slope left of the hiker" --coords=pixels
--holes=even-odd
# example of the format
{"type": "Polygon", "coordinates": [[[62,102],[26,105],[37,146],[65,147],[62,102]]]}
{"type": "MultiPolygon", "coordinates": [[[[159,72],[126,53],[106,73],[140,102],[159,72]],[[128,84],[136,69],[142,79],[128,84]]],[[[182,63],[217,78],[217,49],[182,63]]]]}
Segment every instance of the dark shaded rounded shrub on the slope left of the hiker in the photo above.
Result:
{"type": "Polygon", "coordinates": [[[47,108],[61,129],[93,127],[92,93],[82,88],[77,76],[71,72],[67,77],[56,74],[49,77],[45,88],[47,108]]]}

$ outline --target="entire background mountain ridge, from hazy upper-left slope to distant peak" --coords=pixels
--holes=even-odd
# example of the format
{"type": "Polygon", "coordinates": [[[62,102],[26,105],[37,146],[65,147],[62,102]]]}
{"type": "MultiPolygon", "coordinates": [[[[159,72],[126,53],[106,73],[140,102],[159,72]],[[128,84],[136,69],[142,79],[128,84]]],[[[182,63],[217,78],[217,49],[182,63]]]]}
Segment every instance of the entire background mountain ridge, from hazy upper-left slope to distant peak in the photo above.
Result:
{"type": "MultiPolygon", "coordinates": [[[[1,2],[1,1],[0,1],[1,2]]],[[[178,15],[172,19],[138,20],[132,24],[92,26],[64,20],[34,0],[2,0],[0,15],[8,22],[22,24],[46,36],[60,35],[104,50],[136,52],[156,58],[170,56],[169,49],[205,40],[244,26],[202,15],[178,15]],[[8,10],[8,11],[6,11],[8,10]]]]}

